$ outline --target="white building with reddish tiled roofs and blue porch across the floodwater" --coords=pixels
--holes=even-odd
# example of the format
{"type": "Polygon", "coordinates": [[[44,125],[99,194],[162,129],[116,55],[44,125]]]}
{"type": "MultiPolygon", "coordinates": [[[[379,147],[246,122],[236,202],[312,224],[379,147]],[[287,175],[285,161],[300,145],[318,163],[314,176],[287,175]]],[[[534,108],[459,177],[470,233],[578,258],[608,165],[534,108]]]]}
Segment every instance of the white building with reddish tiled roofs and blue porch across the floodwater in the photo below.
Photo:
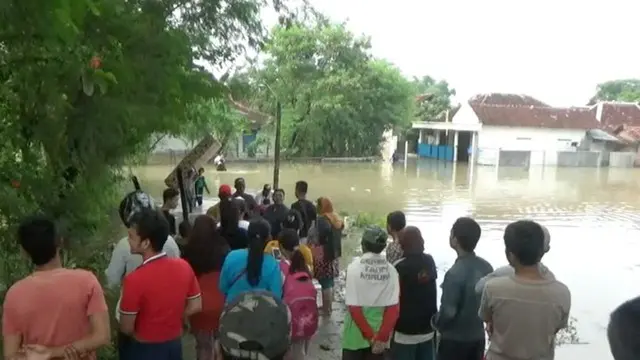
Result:
{"type": "Polygon", "coordinates": [[[480,165],[602,166],[624,148],[604,130],[630,123],[640,126],[636,104],[558,108],[526,95],[487,94],[463,104],[451,122],[413,127],[421,129],[421,156],[480,165]]]}

